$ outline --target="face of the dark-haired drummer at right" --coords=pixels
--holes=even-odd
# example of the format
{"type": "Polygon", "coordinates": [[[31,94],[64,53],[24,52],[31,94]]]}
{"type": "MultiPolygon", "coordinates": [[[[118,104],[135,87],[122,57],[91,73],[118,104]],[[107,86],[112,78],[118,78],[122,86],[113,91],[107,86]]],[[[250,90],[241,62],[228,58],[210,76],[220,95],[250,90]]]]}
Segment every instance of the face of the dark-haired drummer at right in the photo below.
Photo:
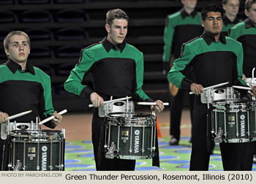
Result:
{"type": "Polygon", "coordinates": [[[202,20],[202,26],[205,31],[214,35],[222,31],[222,14],[220,12],[208,12],[206,20],[202,20]]]}

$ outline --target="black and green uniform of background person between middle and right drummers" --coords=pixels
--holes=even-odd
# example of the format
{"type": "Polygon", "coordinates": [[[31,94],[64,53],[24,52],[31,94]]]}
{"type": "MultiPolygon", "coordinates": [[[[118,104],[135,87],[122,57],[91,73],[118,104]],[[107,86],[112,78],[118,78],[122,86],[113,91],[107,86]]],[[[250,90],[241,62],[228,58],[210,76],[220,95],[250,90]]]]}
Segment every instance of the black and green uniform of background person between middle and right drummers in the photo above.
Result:
{"type": "MultiPolygon", "coordinates": [[[[190,15],[181,9],[172,15],[168,15],[165,23],[164,33],[164,54],[162,56],[164,71],[170,71],[170,58],[178,58],[181,55],[181,45],[195,37],[199,37],[203,33],[201,26],[201,16],[196,10],[190,15]]],[[[172,61],[173,62],[173,61],[172,61]]],[[[187,72],[191,74],[191,72],[187,72]]],[[[181,135],[181,112],[186,95],[189,99],[190,115],[192,119],[194,96],[189,96],[187,90],[179,90],[176,96],[170,94],[170,135],[178,141],[181,135]]]]}

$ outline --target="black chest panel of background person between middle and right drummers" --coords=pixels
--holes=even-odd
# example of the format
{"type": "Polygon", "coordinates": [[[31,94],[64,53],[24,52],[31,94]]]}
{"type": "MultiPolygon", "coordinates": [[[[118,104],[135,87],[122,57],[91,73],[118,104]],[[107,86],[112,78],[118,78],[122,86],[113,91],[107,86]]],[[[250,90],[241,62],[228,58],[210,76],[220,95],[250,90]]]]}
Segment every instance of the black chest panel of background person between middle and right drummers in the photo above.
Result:
{"type": "Polygon", "coordinates": [[[200,25],[178,25],[175,27],[175,32],[173,35],[173,48],[172,52],[175,55],[175,58],[178,58],[181,55],[181,46],[183,43],[187,42],[190,39],[198,37],[203,33],[203,27],[200,25]],[[181,34],[185,33],[185,34],[181,34]]]}

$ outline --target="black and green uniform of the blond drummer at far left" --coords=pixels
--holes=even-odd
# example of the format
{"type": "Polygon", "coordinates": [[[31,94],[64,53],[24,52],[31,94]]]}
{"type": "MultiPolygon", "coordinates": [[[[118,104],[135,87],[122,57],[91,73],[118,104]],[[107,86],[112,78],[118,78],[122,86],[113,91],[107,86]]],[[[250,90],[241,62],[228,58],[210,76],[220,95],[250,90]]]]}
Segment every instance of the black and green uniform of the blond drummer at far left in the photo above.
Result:
{"type": "MultiPolygon", "coordinates": [[[[40,120],[53,115],[53,104],[50,88],[50,77],[41,69],[26,65],[26,70],[21,70],[20,65],[9,59],[6,64],[0,65],[0,111],[8,115],[32,110],[28,115],[15,118],[18,123],[30,123],[31,120],[40,120]]],[[[54,128],[51,121],[45,126],[54,128]]],[[[2,146],[0,140],[0,161],[2,146]]],[[[2,163],[2,162],[0,162],[2,163]]]]}

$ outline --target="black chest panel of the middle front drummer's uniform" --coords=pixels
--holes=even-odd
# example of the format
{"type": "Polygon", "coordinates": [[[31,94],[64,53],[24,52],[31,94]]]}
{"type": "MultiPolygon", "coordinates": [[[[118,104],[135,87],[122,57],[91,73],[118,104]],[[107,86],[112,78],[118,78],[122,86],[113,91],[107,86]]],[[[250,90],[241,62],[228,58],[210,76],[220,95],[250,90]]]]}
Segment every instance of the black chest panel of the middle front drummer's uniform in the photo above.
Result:
{"type": "Polygon", "coordinates": [[[129,96],[135,91],[136,64],[130,58],[104,58],[92,71],[94,91],[110,96],[129,96]],[[132,76],[132,77],[131,77],[132,76]]]}

